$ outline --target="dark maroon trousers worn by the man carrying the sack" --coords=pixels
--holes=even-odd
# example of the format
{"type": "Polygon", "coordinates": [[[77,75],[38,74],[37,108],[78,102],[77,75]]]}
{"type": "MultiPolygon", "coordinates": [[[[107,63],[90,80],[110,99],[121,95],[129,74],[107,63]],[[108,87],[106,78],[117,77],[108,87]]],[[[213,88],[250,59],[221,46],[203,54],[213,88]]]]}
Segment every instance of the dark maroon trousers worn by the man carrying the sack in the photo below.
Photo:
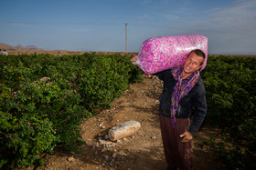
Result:
{"type": "Polygon", "coordinates": [[[160,114],[160,127],[163,139],[165,160],[170,169],[192,169],[192,141],[181,143],[182,135],[188,130],[190,119],[176,119],[172,127],[171,118],[160,114]]]}

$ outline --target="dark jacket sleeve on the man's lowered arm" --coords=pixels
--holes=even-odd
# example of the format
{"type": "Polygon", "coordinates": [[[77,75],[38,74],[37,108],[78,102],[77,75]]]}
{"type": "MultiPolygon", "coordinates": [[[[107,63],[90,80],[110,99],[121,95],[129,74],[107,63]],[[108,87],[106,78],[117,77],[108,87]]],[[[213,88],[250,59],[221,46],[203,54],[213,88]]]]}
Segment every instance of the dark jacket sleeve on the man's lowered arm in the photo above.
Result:
{"type": "Polygon", "coordinates": [[[192,97],[192,105],[195,107],[194,117],[189,126],[188,132],[195,135],[207,115],[206,90],[203,83],[197,86],[196,95],[192,97]]]}

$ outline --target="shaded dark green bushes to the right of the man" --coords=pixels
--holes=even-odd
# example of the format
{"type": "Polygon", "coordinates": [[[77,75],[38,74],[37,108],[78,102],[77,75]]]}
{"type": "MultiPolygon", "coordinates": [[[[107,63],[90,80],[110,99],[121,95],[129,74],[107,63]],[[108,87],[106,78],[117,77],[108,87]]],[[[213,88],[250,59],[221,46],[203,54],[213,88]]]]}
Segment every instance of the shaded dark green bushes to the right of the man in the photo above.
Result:
{"type": "Polygon", "coordinates": [[[244,167],[248,164],[240,159],[238,148],[246,148],[244,155],[254,153],[253,159],[256,153],[256,58],[209,56],[201,75],[207,90],[206,121],[222,127],[231,137],[232,148],[236,148],[230,152],[225,143],[216,144],[218,157],[226,156],[229,160],[224,162],[232,167],[244,167]]]}

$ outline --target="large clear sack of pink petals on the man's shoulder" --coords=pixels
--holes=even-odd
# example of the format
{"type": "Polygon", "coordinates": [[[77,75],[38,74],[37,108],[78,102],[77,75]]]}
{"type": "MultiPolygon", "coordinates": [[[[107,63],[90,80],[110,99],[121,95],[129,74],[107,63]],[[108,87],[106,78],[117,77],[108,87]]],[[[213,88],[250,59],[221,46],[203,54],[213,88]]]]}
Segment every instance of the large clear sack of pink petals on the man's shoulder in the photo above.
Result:
{"type": "Polygon", "coordinates": [[[208,38],[204,35],[175,35],[153,37],[141,45],[138,60],[135,62],[144,73],[152,75],[185,63],[192,50],[199,49],[208,57],[208,38]]]}

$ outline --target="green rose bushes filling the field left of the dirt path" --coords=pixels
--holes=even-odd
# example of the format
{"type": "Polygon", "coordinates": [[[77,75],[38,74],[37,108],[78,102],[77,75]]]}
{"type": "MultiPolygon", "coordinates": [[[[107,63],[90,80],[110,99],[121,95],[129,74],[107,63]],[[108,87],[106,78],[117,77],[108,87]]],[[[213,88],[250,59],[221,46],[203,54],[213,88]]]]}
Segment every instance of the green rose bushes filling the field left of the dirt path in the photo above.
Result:
{"type": "Polygon", "coordinates": [[[140,75],[122,55],[1,55],[0,168],[43,165],[59,145],[84,144],[80,124],[140,75]],[[44,80],[40,80],[45,77],[44,80]],[[6,156],[7,155],[7,156],[6,156]]]}

